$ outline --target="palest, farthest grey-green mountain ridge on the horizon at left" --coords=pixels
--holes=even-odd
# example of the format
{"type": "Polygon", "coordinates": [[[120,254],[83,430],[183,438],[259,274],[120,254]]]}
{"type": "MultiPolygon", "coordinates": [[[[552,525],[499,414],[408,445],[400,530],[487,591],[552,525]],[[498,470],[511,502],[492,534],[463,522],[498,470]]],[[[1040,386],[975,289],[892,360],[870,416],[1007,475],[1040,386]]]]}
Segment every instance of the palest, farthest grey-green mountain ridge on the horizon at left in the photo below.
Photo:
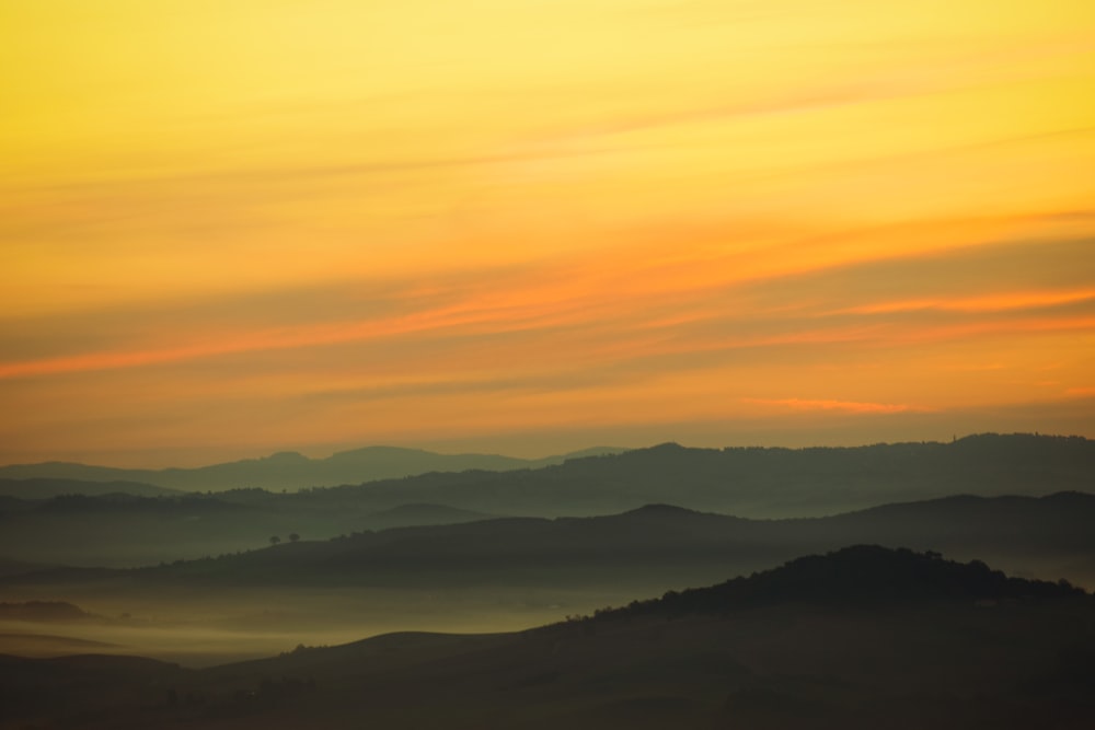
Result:
{"type": "MultiPolygon", "coordinates": [[[[342,451],[326,459],[309,459],[293,451],[284,451],[262,459],[246,459],[195,468],[129,470],[67,462],[13,464],[0,466],[0,479],[3,482],[32,478],[91,483],[131,482],[182,491],[219,491],[249,487],[296,490],[303,487],[402,478],[428,472],[538,468],[550,464],[561,464],[568,459],[620,451],[623,450],[600,447],[544,459],[516,459],[496,454],[438,454],[420,449],[367,447],[342,451]]],[[[67,491],[99,494],[91,491],[92,489],[94,488],[89,486],[67,491]]],[[[147,489],[142,489],[140,494],[148,494],[147,489]]],[[[111,489],[111,491],[116,490],[111,489]]],[[[0,494],[8,493],[0,487],[0,494]]],[[[21,495],[13,494],[13,496],[21,495]]]]}

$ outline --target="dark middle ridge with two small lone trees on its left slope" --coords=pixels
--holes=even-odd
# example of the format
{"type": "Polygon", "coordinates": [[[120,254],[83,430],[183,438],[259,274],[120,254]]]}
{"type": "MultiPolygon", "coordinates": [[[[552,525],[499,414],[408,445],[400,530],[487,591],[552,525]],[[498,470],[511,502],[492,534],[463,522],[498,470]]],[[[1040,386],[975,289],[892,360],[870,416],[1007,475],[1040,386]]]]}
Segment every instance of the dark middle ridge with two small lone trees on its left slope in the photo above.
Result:
{"type": "MultiPolygon", "coordinates": [[[[226,520],[238,519],[239,510],[249,514],[238,505],[216,501],[209,509],[226,520]]],[[[161,525],[163,534],[159,519],[148,524],[161,525]]],[[[796,520],[747,520],[652,505],[595,518],[500,518],[354,532],[143,570],[87,575],[125,576],[135,584],[581,586],[610,580],[638,588],[710,582],[803,553],[872,543],[940,549],[964,559],[982,556],[1024,575],[1095,584],[1092,524],[1095,496],[1079,493],[945,498],[796,520]]],[[[114,535],[120,538],[117,529],[114,535]]],[[[261,543],[266,544],[265,537],[261,543]]],[[[49,573],[39,573],[37,580],[50,580],[49,573]]]]}

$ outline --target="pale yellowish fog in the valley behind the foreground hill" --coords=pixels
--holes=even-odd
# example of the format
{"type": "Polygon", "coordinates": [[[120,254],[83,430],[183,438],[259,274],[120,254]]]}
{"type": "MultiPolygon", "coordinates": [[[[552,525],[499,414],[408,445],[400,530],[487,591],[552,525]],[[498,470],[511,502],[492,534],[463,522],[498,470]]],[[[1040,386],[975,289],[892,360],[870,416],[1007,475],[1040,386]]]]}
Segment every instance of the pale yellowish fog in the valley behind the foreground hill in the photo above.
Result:
{"type": "Polygon", "coordinates": [[[291,592],[221,590],[216,594],[60,594],[21,591],[0,601],[68,601],[94,616],[76,621],[0,619],[4,653],[53,657],[118,653],[208,667],[333,646],[404,630],[514,631],[567,615],[624,604],[620,590],[354,589],[291,592]]]}

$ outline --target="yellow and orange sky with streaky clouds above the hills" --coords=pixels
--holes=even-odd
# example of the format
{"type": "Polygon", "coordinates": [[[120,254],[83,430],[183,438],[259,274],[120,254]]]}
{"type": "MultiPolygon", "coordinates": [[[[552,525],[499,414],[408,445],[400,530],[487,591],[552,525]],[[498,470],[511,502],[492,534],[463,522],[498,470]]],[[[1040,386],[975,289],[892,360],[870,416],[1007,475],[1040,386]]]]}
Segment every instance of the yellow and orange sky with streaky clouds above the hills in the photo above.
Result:
{"type": "Polygon", "coordinates": [[[0,463],[1095,437],[1088,0],[0,0],[0,463]]]}

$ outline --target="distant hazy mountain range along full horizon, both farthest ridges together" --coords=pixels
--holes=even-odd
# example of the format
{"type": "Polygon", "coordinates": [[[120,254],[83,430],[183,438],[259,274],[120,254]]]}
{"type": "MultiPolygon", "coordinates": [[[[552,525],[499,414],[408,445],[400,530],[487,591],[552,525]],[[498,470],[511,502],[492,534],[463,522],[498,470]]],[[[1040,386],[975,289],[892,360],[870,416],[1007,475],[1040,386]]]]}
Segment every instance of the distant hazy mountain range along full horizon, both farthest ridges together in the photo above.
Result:
{"type": "MultiPolygon", "coordinates": [[[[313,536],[361,529],[367,526],[367,513],[408,503],[499,515],[577,517],[666,502],[742,517],[788,518],[959,494],[1038,496],[1090,490],[1095,485],[1095,441],[1031,434],[988,433],[953,443],[840,449],[689,449],[667,443],[621,453],[577,452],[546,464],[552,461],[364,449],[325,460],[283,454],[162,472],[62,464],[8,466],[0,467],[0,478],[46,478],[53,470],[49,478],[54,479],[85,479],[97,474],[94,478],[124,478],[161,488],[201,491],[226,485],[250,486],[246,490],[218,493],[216,497],[300,514],[313,536]],[[493,466],[484,467],[484,463],[493,466]],[[481,465],[475,467],[475,464],[481,465]],[[384,470],[428,473],[378,478],[384,470]],[[335,483],[344,486],[268,494],[279,493],[284,485],[296,488],[335,483]],[[321,513],[331,518],[326,529],[311,519],[321,513]],[[355,520],[358,526],[354,526],[355,520]]],[[[10,482],[0,483],[0,495],[11,494],[3,491],[5,486],[14,488],[10,482]]],[[[80,489],[71,480],[60,486],[47,483],[15,486],[21,495],[30,488],[39,488],[43,495],[80,489]]],[[[299,530],[292,524],[287,526],[299,530]]]]}

